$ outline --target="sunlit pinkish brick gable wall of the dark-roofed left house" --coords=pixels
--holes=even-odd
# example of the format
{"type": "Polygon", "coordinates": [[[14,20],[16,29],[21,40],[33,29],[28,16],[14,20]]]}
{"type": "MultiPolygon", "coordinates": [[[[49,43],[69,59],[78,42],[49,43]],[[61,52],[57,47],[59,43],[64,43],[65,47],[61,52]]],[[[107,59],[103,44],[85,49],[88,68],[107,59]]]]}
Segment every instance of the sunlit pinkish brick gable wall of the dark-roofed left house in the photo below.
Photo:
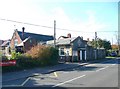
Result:
{"type": "Polygon", "coordinates": [[[15,31],[15,32],[13,33],[13,36],[12,36],[12,39],[11,39],[11,42],[10,42],[10,47],[11,47],[11,49],[14,49],[14,48],[15,48],[15,45],[14,45],[15,39],[18,40],[18,44],[20,44],[20,43],[22,42],[22,40],[21,40],[20,36],[18,35],[17,31],[15,31]]]}

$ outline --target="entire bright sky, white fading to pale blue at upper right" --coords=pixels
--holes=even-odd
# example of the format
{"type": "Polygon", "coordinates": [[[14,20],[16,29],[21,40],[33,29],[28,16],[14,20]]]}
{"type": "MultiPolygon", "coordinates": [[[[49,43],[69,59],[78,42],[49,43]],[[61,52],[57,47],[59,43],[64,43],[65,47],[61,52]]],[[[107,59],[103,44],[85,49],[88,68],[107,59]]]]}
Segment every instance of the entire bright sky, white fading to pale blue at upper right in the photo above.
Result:
{"type": "Polygon", "coordinates": [[[56,38],[71,33],[92,40],[97,32],[97,37],[115,44],[118,0],[0,0],[0,39],[11,39],[14,30],[22,27],[26,32],[54,35],[54,20],[56,38]]]}

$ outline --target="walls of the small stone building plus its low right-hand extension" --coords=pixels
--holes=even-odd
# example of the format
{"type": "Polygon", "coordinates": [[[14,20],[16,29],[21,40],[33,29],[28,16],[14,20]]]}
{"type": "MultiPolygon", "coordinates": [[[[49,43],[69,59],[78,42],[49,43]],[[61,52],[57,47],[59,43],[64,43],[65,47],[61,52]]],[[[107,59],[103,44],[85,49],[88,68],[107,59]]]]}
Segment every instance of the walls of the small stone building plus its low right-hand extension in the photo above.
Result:
{"type": "Polygon", "coordinates": [[[105,58],[105,50],[104,49],[97,49],[95,52],[95,48],[92,46],[88,46],[82,39],[77,38],[74,40],[70,46],[63,46],[59,45],[59,52],[60,48],[64,48],[65,55],[60,55],[60,59],[72,62],[82,62],[82,61],[89,61],[95,59],[103,59],[105,58]],[[71,55],[67,56],[66,52],[69,50],[71,55]],[[96,54],[95,54],[96,53],[96,54]]]}

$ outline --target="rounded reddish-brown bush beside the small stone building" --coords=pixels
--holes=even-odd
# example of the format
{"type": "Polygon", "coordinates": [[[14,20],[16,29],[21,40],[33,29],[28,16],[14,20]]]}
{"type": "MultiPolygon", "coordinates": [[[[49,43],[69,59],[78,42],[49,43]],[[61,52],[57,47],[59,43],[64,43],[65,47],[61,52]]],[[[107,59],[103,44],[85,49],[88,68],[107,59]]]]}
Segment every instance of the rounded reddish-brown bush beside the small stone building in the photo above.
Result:
{"type": "Polygon", "coordinates": [[[49,46],[35,46],[26,53],[32,59],[40,60],[41,65],[53,65],[58,63],[58,50],[49,46]]]}

